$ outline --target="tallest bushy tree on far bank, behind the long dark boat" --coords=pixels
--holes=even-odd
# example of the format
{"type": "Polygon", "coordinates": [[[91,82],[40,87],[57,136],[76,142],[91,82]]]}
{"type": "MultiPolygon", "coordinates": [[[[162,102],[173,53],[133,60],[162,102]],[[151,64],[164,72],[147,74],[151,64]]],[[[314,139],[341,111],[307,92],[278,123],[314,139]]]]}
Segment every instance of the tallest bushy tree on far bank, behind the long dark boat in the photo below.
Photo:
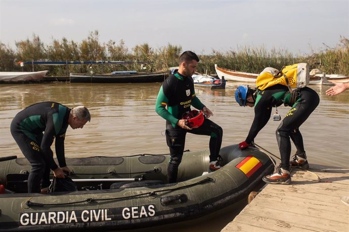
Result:
{"type": "Polygon", "coordinates": [[[84,61],[106,60],[105,46],[99,42],[98,30],[90,32],[87,39],[82,40],[80,45],[80,58],[84,61]]]}

